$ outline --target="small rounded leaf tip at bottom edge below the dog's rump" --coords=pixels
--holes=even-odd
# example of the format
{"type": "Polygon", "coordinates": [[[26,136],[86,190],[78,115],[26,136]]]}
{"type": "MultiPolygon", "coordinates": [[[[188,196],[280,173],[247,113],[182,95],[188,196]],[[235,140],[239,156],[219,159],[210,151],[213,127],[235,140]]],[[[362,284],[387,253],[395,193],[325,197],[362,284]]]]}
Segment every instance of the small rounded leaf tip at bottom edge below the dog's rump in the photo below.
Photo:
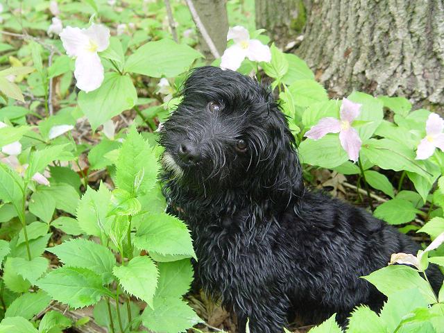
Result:
{"type": "Polygon", "coordinates": [[[386,332],[384,322],[368,306],[357,307],[348,321],[347,333],[375,332],[386,332]]]}

